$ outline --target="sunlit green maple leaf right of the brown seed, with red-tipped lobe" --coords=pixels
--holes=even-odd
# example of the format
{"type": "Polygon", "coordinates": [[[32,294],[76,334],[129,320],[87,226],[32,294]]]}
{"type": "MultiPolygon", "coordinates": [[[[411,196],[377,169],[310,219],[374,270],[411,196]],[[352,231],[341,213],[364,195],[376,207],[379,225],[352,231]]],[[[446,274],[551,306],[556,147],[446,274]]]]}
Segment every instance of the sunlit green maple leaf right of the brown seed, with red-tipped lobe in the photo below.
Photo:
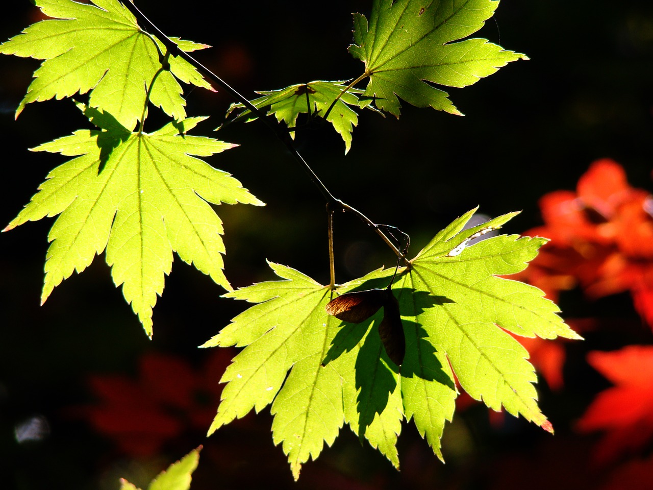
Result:
{"type": "MultiPolygon", "coordinates": [[[[497,277],[525,269],[547,239],[500,235],[467,246],[470,238],[515,216],[507,214],[463,229],[473,212],[438,233],[411,261],[409,270],[394,285],[400,291],[412,291],[405,299],[400,297],[400,310],[402,315],[415,314],[415,323],[423,329],[418,341],[426,340],[417,345],[445,354],[471,397],[482,399],[494,410],[503,406],[509,413],[521,414],[552,431],[537,407],[536,377],[526,361],[528,352],[505,331],[528,337],[581,337],[565,325],[557,315],[558,307],[545,299],[540,289],[497,277]]],[[[421,363],[415,359],[416,353],[429,355],[422,349],[410,350],[408,338],[406,343],[402,374],[404,368],[417,372],[421,363]]],[[[413,413],[422,431],[428,426],[417,420],[417,402],[413,413]]]]}

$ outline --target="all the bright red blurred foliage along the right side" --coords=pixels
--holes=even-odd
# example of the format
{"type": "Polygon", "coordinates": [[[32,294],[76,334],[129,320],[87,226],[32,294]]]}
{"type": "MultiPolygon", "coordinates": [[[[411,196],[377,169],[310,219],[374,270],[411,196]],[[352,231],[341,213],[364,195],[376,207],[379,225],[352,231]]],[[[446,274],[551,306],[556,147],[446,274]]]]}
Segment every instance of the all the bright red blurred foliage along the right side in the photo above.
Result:
{"type": "MultiPolygon", "coordinates": [[[[631,187],[621,165],[601,159],[581,176],[575,192],[554,191],[543,196],[539,206],[545,224],[524,235],[551,241],[528,269],[512,278],[540,287],[553,301],[558,301],[560,291],[575,287],[588,299],[628,291],[635,310],[653,329],[650,193],[631,187]]],[[[601,321],[596,318],[590,329],[601,321]]],[[[527,339],[524,346],[556,389],[562,385],[560,353],[542,363],[538,347],[542,343],[527,339]]],[[[581,433],[605,433],[593,451],[592,464],[607,476],[597,487],[650,488],[653,460],[639,458],[653,443],[653,346],[591,351],[587,361],[614,384],[598,393],[576,425],[581,433]]]]}

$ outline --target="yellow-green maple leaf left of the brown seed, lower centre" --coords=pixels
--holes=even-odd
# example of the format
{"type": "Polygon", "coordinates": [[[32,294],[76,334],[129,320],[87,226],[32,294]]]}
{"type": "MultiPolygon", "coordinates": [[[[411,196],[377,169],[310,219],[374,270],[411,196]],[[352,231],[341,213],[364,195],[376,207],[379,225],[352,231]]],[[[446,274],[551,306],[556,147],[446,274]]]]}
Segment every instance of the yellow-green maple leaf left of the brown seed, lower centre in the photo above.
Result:
{"type": "MultiPolygon", "coordinates": [[[[355,353],[323,367],[340,325],[325,311],[332,296],[329,287],[295,269],[274,263],[270,267],[285,280],[227,293],[227,297],[260,304],[234,318],[203,346],[247,346],[225,370],[221,381],[228,384],[209,433],[272,403],[274,442],[282,444],[298,478],[302,463],[315,459],[325,442],[333,444],[345,411],[354,424],[358,421],[355,353]]],[[[360,281],[347,287],[358,284],[360,281]]],[[[396,416],[402,417],[401,412],[396,411],[396,416]]],[[[383,433],[388,425],[378,420],[370,429],[371,437],[381,441],[376,444],[385,444],[386,438],[377,433],[383,433]]],[[[394,448],[394,444],[390,446],[394,448]]]]}

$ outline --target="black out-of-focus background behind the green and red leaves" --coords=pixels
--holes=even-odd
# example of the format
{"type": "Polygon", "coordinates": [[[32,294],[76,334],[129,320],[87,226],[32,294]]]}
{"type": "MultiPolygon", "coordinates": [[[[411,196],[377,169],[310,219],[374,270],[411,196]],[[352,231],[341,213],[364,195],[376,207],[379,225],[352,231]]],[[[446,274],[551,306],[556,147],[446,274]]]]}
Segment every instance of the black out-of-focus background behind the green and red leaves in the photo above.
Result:
{"type": "MultiPolygon", "coordinates": [[[[351,12],[368,14],[370,4],[137,2],[168,35],[212,44],[214,48],[197,57],[249,98],[254,90],[358,76],[362,63],[346,50],[351,12]]],[[[0,21],[0,39],[39,19],[27,1],[12,1],[4,8],[8,12],[0,21]]],[[[364,111],[346,157],[342,140],[330,129],[298,135],[300,151],[336,197],[372,220],[407,231],[417,253],[441,227],[476,205],[490,216],[523,210],[507,225],[509,233],[539,224],[537,199],[554,189],[573,189],[600,157],[622,163],[634,186],[651,188],[650,1],[503,0],[478,37],[526,53],[531,60],[511,63],[474,86],[447,90],[465,117],[407,104],[400,120],[364,111]]],[[[14,110],[38,65],[33,59],[0,57],[3,225],[29,201],[48,171],[65,161],[61,155],[27,148],[89,127],[69,100],[32,103],[14,121],[14,110]]],[[[185,90],[189,115],[212,116],[195,134],[215,136],[212,129],[231,101],[223,92],[185,90]]],[[[149,129],[163,123],[157,110],[150,110],[149,129]]],[[[215,155],[209,163],[234,174],[267,203],[265,208],[218,209],[225,221],[226,273],[232,284],[272,278],[265,259],[328,281],[324,203],[283,146],[256,122],[233,125],[217,137],[242,146],[215,155]]],[[[244,306],[221,299],[224,291],[177,258],[154,310],[150,341],[99,257],[39,307],[52,222],[26,223],[0,236],[0,467],[7,465],[2,474],[10,488],[111,489],[118,487],[119,476],[144,486],[199,444],[205,449],[194,480],[198,490],[517,488],[526,479],[535,480],[528,483],[531,488],[569,481],[576,488],[590,488],[595,482],[593,470],[571,464],[592,441],[574,434],[571,425],[605,386],[582,359],[585,351],[597,345],[617,348],[626,343],[624,338],[590,336],[582,346],[570,347],[565,390],[551,393],[545,383],[539,385],[541,406],[556,436],[523,419],[492,425],[482,407],[473,407],[445,429],[447,465],[432,455],[412,424],[404,424],[398,443],[402,472],[360,446],[345,428],[334,447],[307,463],[300,482],[293,483],[281,448],[272,444],[267,408],[208,439],[195,431],[168,442],[157,455],[125,454],[71,410],[97,400],[89,377],[135,378],[139,359],[153,353],[174,355],[200,369],[210,353],[197,346],[244,306]],[[14,428],[33,416],[46,419],[49,432],[37,442],[19,445],[14,428]],[[526,463],[519,459],[524,455],[526,463]]],[[[338,282],[392,263],[389,250],[354,218],[338,216],[335,227],[338,282]]],[[[626,296],[589,305],[572,293],[562,298],[561,306],[570,316],[622,308],[634,318],[626,296]]]]}

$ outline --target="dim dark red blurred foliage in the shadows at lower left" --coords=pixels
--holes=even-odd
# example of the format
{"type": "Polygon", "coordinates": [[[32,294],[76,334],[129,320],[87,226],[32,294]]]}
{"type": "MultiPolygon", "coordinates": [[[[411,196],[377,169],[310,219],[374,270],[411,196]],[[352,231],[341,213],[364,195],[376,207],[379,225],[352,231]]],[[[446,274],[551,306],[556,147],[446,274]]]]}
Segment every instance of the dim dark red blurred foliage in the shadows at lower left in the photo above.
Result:
{"type": "Polygon", "coordinates": [[[136,379],[92,376],[89,385],[99,400],[76,413],[127,455],[154,455],[186,433],[206,433],[222,391],[218,381],[233,355],[229,349],[212,350],[195,370],[179,357],[146,353],[136,379]]]}

